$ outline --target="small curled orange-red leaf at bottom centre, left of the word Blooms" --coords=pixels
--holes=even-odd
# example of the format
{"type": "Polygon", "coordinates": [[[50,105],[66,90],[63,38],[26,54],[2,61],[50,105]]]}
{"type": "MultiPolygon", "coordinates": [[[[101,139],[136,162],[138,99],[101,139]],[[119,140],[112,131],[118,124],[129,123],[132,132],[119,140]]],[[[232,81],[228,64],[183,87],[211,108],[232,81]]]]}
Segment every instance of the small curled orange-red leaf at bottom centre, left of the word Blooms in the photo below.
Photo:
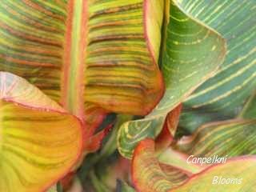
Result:
{"type": "Polygon", "coordinates": [[[154,141],[145,139],[134,150],[132,180],[136,190],[162,192],[179,186],[188,176],[174,167],[160,164],[154,154],[154,141]]]}

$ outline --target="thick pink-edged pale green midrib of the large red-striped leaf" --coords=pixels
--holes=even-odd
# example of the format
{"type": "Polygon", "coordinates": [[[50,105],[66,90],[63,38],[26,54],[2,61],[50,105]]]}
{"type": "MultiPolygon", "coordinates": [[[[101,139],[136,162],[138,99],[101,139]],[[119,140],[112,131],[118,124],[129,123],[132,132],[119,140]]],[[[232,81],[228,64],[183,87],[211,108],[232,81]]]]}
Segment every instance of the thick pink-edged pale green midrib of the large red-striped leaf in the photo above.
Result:
{"type": "Polygon", "coordinates": [[[78,118],[83,117],[82,79],[86,39],[86,1],[71,0],[68,5],[67,30],[65,42],[64,74],[62,81],[62,105],[78,118]]]}

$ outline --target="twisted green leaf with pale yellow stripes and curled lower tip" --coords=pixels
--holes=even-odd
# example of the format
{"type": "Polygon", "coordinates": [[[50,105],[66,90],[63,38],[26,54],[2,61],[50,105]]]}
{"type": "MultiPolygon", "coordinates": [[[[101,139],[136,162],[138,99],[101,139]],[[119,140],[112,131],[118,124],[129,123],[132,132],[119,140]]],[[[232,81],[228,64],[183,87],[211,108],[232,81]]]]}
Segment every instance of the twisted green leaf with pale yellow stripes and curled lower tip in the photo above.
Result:
{"type": "Polygon", "coordinates": [[[158,135],[166,115],[214,74],[226,54],[225,41],[218,33],[183,13],[175,2],[166,9],[170,11],[162,54],[166,92],[146,118],[127,122],[119,130],[118,150],[126,158],[131,158],[143,138],[158,135]]]}

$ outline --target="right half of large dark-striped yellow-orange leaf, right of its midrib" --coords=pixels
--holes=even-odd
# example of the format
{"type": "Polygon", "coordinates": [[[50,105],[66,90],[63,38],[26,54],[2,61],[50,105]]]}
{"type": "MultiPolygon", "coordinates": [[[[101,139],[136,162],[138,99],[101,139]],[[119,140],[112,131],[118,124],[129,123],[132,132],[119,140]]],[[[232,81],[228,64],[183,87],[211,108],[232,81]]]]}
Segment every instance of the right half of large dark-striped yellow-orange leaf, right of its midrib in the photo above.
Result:
{"type": "Polygon", "coordinates": [[[162,97],[158,70],[163,0],[88,1],[85,99],[148,114],[162,97]]]}

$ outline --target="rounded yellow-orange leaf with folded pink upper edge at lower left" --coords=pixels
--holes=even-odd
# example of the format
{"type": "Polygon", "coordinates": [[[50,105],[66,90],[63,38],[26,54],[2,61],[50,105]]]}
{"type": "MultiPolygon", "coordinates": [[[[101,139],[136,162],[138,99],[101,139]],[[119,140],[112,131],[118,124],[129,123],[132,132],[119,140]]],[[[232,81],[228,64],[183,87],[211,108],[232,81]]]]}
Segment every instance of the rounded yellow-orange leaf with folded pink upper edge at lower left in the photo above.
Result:
{"type": "Polygon", "coordinates": [[[0,191],[44,191],[82,151],[82,126],[23,78],[0,72],[0,191]]]}

